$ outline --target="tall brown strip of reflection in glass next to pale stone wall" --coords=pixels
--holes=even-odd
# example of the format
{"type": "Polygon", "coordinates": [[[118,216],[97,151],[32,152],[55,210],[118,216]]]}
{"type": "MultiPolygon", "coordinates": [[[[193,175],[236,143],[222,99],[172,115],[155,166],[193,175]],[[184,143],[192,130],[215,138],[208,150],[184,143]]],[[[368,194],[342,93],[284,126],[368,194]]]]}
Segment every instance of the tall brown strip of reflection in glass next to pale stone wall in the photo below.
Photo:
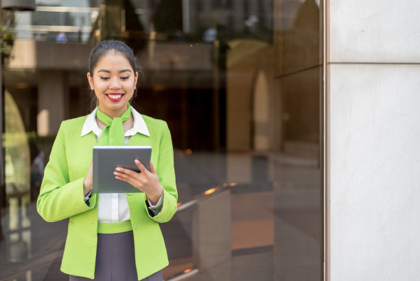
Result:
{"type": "MultiPolygon", "coordinates": [[[[322,5],[321,5],[322,6],[322,5]]],[[[275,280],[322,280],[320,5],[275,1],[281,155],[275,174],[275,280]],[[292,17],[290,17],[292,16],[292,17]],[[299,265],[299,267],[296,267],[299,265]]]]}

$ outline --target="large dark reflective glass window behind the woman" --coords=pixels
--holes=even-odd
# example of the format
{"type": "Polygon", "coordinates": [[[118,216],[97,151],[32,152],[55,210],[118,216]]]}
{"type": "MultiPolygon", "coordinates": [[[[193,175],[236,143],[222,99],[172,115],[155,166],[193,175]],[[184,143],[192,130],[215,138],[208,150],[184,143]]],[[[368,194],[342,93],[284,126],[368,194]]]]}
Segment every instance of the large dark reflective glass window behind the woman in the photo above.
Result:
{"type": "Polygon", "coordinates": [[[68,280],[68,220],[43,221],[36,199],[60,122],[90,112],[89,52],[108,38],[144,69],[132,105],[172,133],[164,280],[323,280],[322,2],[36,3],[1,23],[0,280],[68,280]]]}

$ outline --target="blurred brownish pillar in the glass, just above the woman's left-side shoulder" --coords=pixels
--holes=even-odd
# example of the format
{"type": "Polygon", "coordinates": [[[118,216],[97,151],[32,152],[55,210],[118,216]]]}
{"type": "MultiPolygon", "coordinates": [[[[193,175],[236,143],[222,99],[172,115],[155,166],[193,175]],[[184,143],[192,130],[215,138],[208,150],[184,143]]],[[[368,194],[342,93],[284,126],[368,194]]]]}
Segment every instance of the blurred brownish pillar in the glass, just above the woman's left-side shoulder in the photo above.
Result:
{"type": "Polygon", "coordinates": [[[38,135],[54,135],[65,120],[65,77],[62,71],[40,71],[38,75],[38,135]]]}

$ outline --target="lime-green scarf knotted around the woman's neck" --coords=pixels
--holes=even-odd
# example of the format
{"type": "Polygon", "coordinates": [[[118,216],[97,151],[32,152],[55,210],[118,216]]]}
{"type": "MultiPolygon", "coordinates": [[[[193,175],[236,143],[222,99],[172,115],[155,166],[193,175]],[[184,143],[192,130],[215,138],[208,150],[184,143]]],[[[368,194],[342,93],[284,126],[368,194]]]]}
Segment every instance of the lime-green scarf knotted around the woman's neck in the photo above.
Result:
{"type": "Polygon", "coordinates": [[[103,113],[99,107],[96,111],[96,117],[103,122],[106,127],[102,130],[100,139],[97,142],[100,146],[124,146],[124,127],[123,122],[126,122],[131,115],[131,107],[128,104],[127,110],[121,117],[111,118],[103,113]]]}

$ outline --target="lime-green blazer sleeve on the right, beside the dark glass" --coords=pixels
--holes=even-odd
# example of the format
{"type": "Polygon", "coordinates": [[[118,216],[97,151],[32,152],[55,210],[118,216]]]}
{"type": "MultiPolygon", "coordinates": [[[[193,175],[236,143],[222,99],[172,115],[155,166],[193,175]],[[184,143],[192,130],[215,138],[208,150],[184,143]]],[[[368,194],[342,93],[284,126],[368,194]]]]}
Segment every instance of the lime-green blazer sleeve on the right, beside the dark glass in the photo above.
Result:
{"type": "MultiPolygon", "coordinates": [[[[172,147],[172,137],[166,122],[164,122],[164,128],[159,142],[159,161],[156,172],[163,186],[162,210],[156,216],[151,216],[149,212],[147,213],[154,221],[166,223],[174,216],[177,208],[176,203],[178,202],[174,168],[174,148],[172,147]]],[[[147,204],[144,205],[147,208],[147,204]]]]}

